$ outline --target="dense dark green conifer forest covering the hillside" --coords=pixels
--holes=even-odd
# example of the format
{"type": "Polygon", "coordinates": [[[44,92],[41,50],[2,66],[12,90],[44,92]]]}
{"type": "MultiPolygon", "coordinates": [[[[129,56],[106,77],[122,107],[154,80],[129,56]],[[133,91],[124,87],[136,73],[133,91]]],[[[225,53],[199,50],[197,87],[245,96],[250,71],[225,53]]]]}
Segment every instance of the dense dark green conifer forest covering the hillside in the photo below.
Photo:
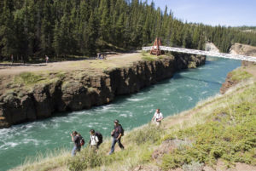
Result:
{"type": "MultiPolygon", "coordinates": [[[[172,8],[172,7],[171,7],[172,8]]],[[[203,49],[214,43],[256,45],[255,31],[187,23],[140,0],[1,0],[0,56],[65,58],[140,49],[161,37],[166,46],[203,49]]]]}

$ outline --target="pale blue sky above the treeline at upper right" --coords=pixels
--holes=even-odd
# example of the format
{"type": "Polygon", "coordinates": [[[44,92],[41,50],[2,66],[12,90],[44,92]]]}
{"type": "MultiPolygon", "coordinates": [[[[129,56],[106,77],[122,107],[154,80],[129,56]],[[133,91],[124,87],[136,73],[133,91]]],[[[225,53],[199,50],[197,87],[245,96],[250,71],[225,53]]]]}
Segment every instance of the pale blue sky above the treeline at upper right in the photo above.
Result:
{"type": "MultiPolygon", "coordinates": [[[[256,0],[153,0],[178,19],[212,26],[256,26],[256,0]]],[[[152,0],[148,0],[151,3],[152,0]]]]}

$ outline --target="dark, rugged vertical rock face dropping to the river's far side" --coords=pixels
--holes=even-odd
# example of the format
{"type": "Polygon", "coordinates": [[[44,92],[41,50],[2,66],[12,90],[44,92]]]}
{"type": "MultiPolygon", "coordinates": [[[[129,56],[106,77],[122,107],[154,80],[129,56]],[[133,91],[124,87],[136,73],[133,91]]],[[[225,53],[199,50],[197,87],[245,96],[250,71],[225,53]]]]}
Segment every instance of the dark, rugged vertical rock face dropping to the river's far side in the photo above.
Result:
{"type": "Polygon", "coordinates": [[[116,95],[132,94],[141,88],[170,78],[175,71],[201,66],[206,57],[173,54],[154,61],[139,60],[131,66],[115,68],[97,75],[77,73],[79,77],[55,79],[20,88],[0,97],[0,128],[51,117],[54,112],[79,111],[111,102],[116,95]]]}

